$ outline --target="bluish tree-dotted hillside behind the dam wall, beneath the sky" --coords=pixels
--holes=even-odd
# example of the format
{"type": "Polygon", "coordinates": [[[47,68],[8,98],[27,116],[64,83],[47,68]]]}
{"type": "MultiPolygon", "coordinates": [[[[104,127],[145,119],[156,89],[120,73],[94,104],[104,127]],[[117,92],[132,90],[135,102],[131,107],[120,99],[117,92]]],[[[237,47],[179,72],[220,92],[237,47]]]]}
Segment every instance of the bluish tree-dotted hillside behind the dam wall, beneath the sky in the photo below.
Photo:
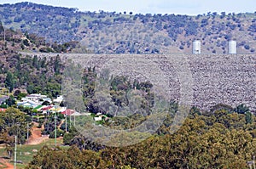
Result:
{"type": "Polygon", "coordinates": [[[254,54],[256,48],[256,13],[117,14],[15,3],[0,5],[0,20],[5,27],[35,33],[51,44],[79,42],[73,52],[190,54],[195,39],[201,40],[203,54],[227,54],[229,40],[237,41],[238,54],[254,54]]]}

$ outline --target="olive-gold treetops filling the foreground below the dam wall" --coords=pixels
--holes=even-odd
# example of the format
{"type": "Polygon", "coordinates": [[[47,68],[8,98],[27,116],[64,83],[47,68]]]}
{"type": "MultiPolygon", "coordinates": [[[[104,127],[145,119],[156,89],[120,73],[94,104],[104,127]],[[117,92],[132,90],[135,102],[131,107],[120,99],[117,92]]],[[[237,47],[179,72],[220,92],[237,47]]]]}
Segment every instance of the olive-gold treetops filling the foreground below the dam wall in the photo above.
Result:
{"type": "Polygon", "coordinates": [[[176,133],[154,135],[127,147],[97,145],[101,149],[96,151],[88,141],[78,143],[87,149],[44,147],[26,168],[252,168],[255,116],[236,111],[222,107],[209,114],[192,108],[176,133]]]}

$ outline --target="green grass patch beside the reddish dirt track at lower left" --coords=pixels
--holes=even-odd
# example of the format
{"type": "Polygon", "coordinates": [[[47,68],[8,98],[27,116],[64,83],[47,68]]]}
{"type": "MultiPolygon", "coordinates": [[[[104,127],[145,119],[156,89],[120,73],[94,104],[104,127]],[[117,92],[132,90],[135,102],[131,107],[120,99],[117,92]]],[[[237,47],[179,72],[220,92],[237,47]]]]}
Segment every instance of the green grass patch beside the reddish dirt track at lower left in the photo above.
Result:
{"type": "MultiPolygon", "coordinates": [[[[54,146],[55,139],[49,139],[42,144],[38,145],[17,145],[17,161],[22,161],[23,164],[17,164],[17,168],[24,168],[26,164],[32,161],[33,155],[37,155],[37,151],[41,149],[44,145],[54,146]]],[[[63,149],[67,149],[68,146],[62,146],[62,139],[57,139],[57,145],[61,146],[63,149]]],[[[0,149],[0,156],[8,156],[7,152],[4,149],[0,149]]],[[[11,163],[14,161],[14,155],[12,157],[11,163]]],[[[3,167],[0,167],[2,169],[3,167]]]]}

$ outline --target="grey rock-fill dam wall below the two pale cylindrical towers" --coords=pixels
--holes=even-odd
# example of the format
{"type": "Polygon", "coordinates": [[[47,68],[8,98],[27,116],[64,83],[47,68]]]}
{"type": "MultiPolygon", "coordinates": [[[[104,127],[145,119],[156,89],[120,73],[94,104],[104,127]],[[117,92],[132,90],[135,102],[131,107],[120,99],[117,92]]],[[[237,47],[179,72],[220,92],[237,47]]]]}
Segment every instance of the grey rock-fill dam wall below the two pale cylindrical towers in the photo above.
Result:
{"type": "MultiPolygon", "coordinates": [[[[30,55],[30,54],[29,54],[30,55]]],[[[35,55],[35,54],[31,54],[35,55]]],[[[37,54],[52,57],[56,54],[37,54]]],[[[148,80],[169,99],[209,110],[215,104],[246,104],[256,110],[256,55],[253,54],[59,54],[100,72],[110,68],[148,80]],[[186,96],[185,96],[186,98],[186,96]],[[191,102],[191,103],[190,103],[191,102]]],[[[122,73],[121,73],[122,74],[122,73]]],[[[157,91],[157,90],[156,90],[157,91]]]]}

